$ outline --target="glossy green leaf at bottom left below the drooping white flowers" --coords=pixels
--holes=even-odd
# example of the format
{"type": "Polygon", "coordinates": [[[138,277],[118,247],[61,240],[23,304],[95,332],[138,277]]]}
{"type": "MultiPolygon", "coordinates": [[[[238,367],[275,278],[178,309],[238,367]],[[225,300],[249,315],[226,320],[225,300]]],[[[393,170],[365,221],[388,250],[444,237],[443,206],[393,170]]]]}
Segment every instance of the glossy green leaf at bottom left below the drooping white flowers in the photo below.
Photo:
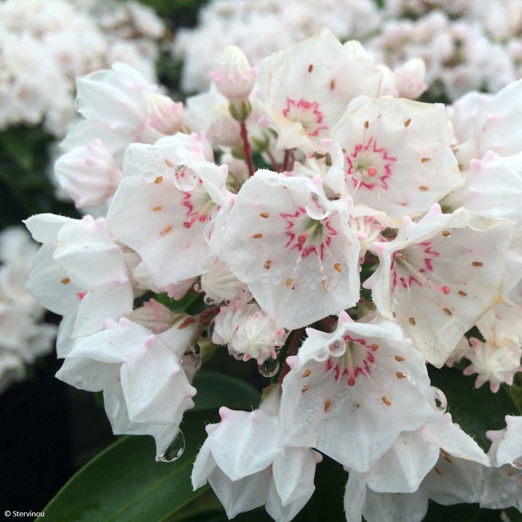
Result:
{"type": "Polygon", "coordinates": [[[44,517],[37,520],[180,520],[176,513],[208,489],[193,492],[190,476],[206,438],[206,423],[218,421],[215,408],[250,409],[260,398],[247,384],[224,375],[201,372],[195,385],[197,407],[184,416],[181,427],[186,446],[179,460],[156,462],[150,436],[121,437],[81,468],[43,509],[44,517]]]}

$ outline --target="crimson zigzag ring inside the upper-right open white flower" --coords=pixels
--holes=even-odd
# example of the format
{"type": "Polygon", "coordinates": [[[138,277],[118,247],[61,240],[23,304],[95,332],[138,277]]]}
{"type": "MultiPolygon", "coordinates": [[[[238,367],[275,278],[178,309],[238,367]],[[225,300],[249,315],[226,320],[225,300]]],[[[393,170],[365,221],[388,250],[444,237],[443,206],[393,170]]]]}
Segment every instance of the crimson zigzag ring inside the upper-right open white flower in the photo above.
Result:
{"type": "Polygon", "coordinates": [[[388,156],[388,151],[378,148],[371,137],[366,145],[358,144],[353,152],[347,154],[347,174],[352,178],[355,188],[365,187],[373,190],[375,186],[388,190],[387,178],[392,175],[391,165],[396,158],[388,156]]]}

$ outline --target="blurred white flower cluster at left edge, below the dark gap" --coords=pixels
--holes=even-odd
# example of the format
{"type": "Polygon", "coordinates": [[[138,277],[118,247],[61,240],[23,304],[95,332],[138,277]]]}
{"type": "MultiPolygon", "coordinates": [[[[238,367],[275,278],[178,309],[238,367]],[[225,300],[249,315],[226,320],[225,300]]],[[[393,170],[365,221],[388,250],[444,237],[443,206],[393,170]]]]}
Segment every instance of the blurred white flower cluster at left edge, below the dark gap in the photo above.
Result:
{"type": "Polygon", "coordinates": [[[24,379],[26,364],[54,345],[56,327],[42,324],[45,309],[24,288],[37,251],[22,228],[0,234],[0,393],[24,379]]]}

